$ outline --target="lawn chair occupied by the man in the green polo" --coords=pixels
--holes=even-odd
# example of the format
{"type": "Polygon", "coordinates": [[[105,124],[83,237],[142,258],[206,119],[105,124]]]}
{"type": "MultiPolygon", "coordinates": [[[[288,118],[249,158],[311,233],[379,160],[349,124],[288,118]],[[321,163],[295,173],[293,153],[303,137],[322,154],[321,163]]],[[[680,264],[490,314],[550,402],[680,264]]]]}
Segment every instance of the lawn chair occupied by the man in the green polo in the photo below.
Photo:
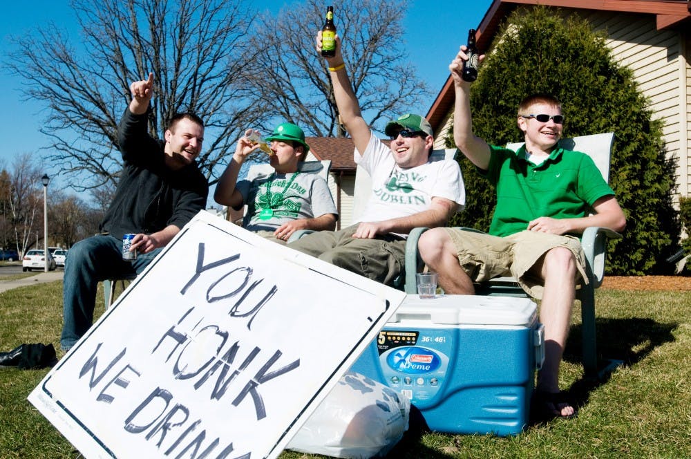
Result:
{"type": "MultiPolygon", "coordinates": [[[[612,143],[614,133],[603,133],[594,135],[583,135],[574,138],[560,140],[562,148],[587,153],[600,169],[603,178],[609,181],[609,158],[612,153],[612,143]]],[[[507,148],[514,151],[518,150],[524,142],[507,144],[507,148]]],[[[467,231],[478,231],[472,228],[460,228],[467,231]]],[[[426,228],[415,228],[408,237],[406,247],[406,265],[408,258],[419,260],[417,254],[417,240],[426,228]],[[415,243],[415,245],[413,245],[415,243]],[[409,250],[408,250],[409,249],[409,250]]],[[[587,375],[597,373],[597,350],[595,335],[595,289],[602,285],[605,274],[605,250],[607,248],[607,238],[621,238],[621,234],[609,228],[589,227],[583,232],[581,245],[586,258],[586,275],[589,283],[580,285],[576,290],[576,299],[580,300],[581,305],[581,326],[583,335],[583,367],[587,375]]],[[[412,261],[411,261],[412,263],[412,261]]],[[[406,292],[416,293],[415,273],[406,274],[406,292]]],[[[490,294],[499,296],[527,297],[527,294],[520,288],[512,277],[498,277],[491,279],[482,285],[476,285],[476,294],[490,294]]]]}

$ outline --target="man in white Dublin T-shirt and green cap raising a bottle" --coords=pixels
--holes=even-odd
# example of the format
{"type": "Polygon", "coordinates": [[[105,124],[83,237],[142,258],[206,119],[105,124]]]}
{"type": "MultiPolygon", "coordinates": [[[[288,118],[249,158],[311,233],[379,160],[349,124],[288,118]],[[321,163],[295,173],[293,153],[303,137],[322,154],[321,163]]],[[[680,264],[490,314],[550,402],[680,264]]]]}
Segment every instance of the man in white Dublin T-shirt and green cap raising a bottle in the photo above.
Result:
{"type": "MultiPolygon", "coordinates": [[[[321,32],[316,37],[321,52],[321,32]]],[[[355,144],[354,160],[372,177],[372,195],[358,220],[338,232],[309,234],[288,246],[390,285],[405,267],[406,237],[415,227],[444,226],[465,203],[458,163],[431,161],[433,130],[408,113],[386,125],[390,147],[372,135],[345,71],[341,39],[326,58],[334,97],[355,144]]]]}

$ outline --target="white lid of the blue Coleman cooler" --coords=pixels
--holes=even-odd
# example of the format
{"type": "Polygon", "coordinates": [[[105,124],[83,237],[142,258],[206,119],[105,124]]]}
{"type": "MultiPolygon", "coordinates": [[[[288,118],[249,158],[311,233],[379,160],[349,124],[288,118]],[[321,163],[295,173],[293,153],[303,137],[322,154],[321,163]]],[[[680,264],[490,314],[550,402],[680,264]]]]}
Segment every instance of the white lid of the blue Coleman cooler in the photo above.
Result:
{"type": "Polygon", "coordinates": [[[530,327],[536,319],[537,305],[529,298],[440,295],[419,299],[417,294],[408,294],[389,322],[530,327]]]}

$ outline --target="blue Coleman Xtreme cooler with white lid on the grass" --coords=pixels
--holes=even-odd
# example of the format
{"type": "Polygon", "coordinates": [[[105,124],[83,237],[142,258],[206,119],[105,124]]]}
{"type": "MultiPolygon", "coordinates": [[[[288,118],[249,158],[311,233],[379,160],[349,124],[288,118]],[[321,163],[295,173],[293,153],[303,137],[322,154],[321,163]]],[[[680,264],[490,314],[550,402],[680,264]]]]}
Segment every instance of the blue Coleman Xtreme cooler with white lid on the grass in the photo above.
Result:
{"type": "Polygon", "coordinates": [[[529,298],[410,294],[351,369],[410,398],[432,430],[514,435],[544,341],[529,298]]]}

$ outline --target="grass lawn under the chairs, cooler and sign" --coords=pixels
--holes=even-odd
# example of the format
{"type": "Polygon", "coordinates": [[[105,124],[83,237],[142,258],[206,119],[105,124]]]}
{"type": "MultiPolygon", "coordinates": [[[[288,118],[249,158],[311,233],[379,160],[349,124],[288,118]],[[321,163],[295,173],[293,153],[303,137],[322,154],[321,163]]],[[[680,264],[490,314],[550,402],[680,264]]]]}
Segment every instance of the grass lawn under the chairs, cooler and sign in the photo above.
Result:
{"type": "MultiPolygon", "coordinates": [[[[61,289],[53,282],[0,293],[1,351],[21,343],[59,348],[61,289]]],[[[624,364],[605,380],[583,379],[576,303],[560,385],[578,400],[578,418],[534,424],[509,438],[413,427],[388,458],[691,457],[691,292],[600,288],[597,310],[598,353],[624,364]]],[[[26,401],[47,372],[0,370],[0,458],[79,457],[26,401]]],[[[284,451],[280,457],[322,456],[284,451]]]]}

